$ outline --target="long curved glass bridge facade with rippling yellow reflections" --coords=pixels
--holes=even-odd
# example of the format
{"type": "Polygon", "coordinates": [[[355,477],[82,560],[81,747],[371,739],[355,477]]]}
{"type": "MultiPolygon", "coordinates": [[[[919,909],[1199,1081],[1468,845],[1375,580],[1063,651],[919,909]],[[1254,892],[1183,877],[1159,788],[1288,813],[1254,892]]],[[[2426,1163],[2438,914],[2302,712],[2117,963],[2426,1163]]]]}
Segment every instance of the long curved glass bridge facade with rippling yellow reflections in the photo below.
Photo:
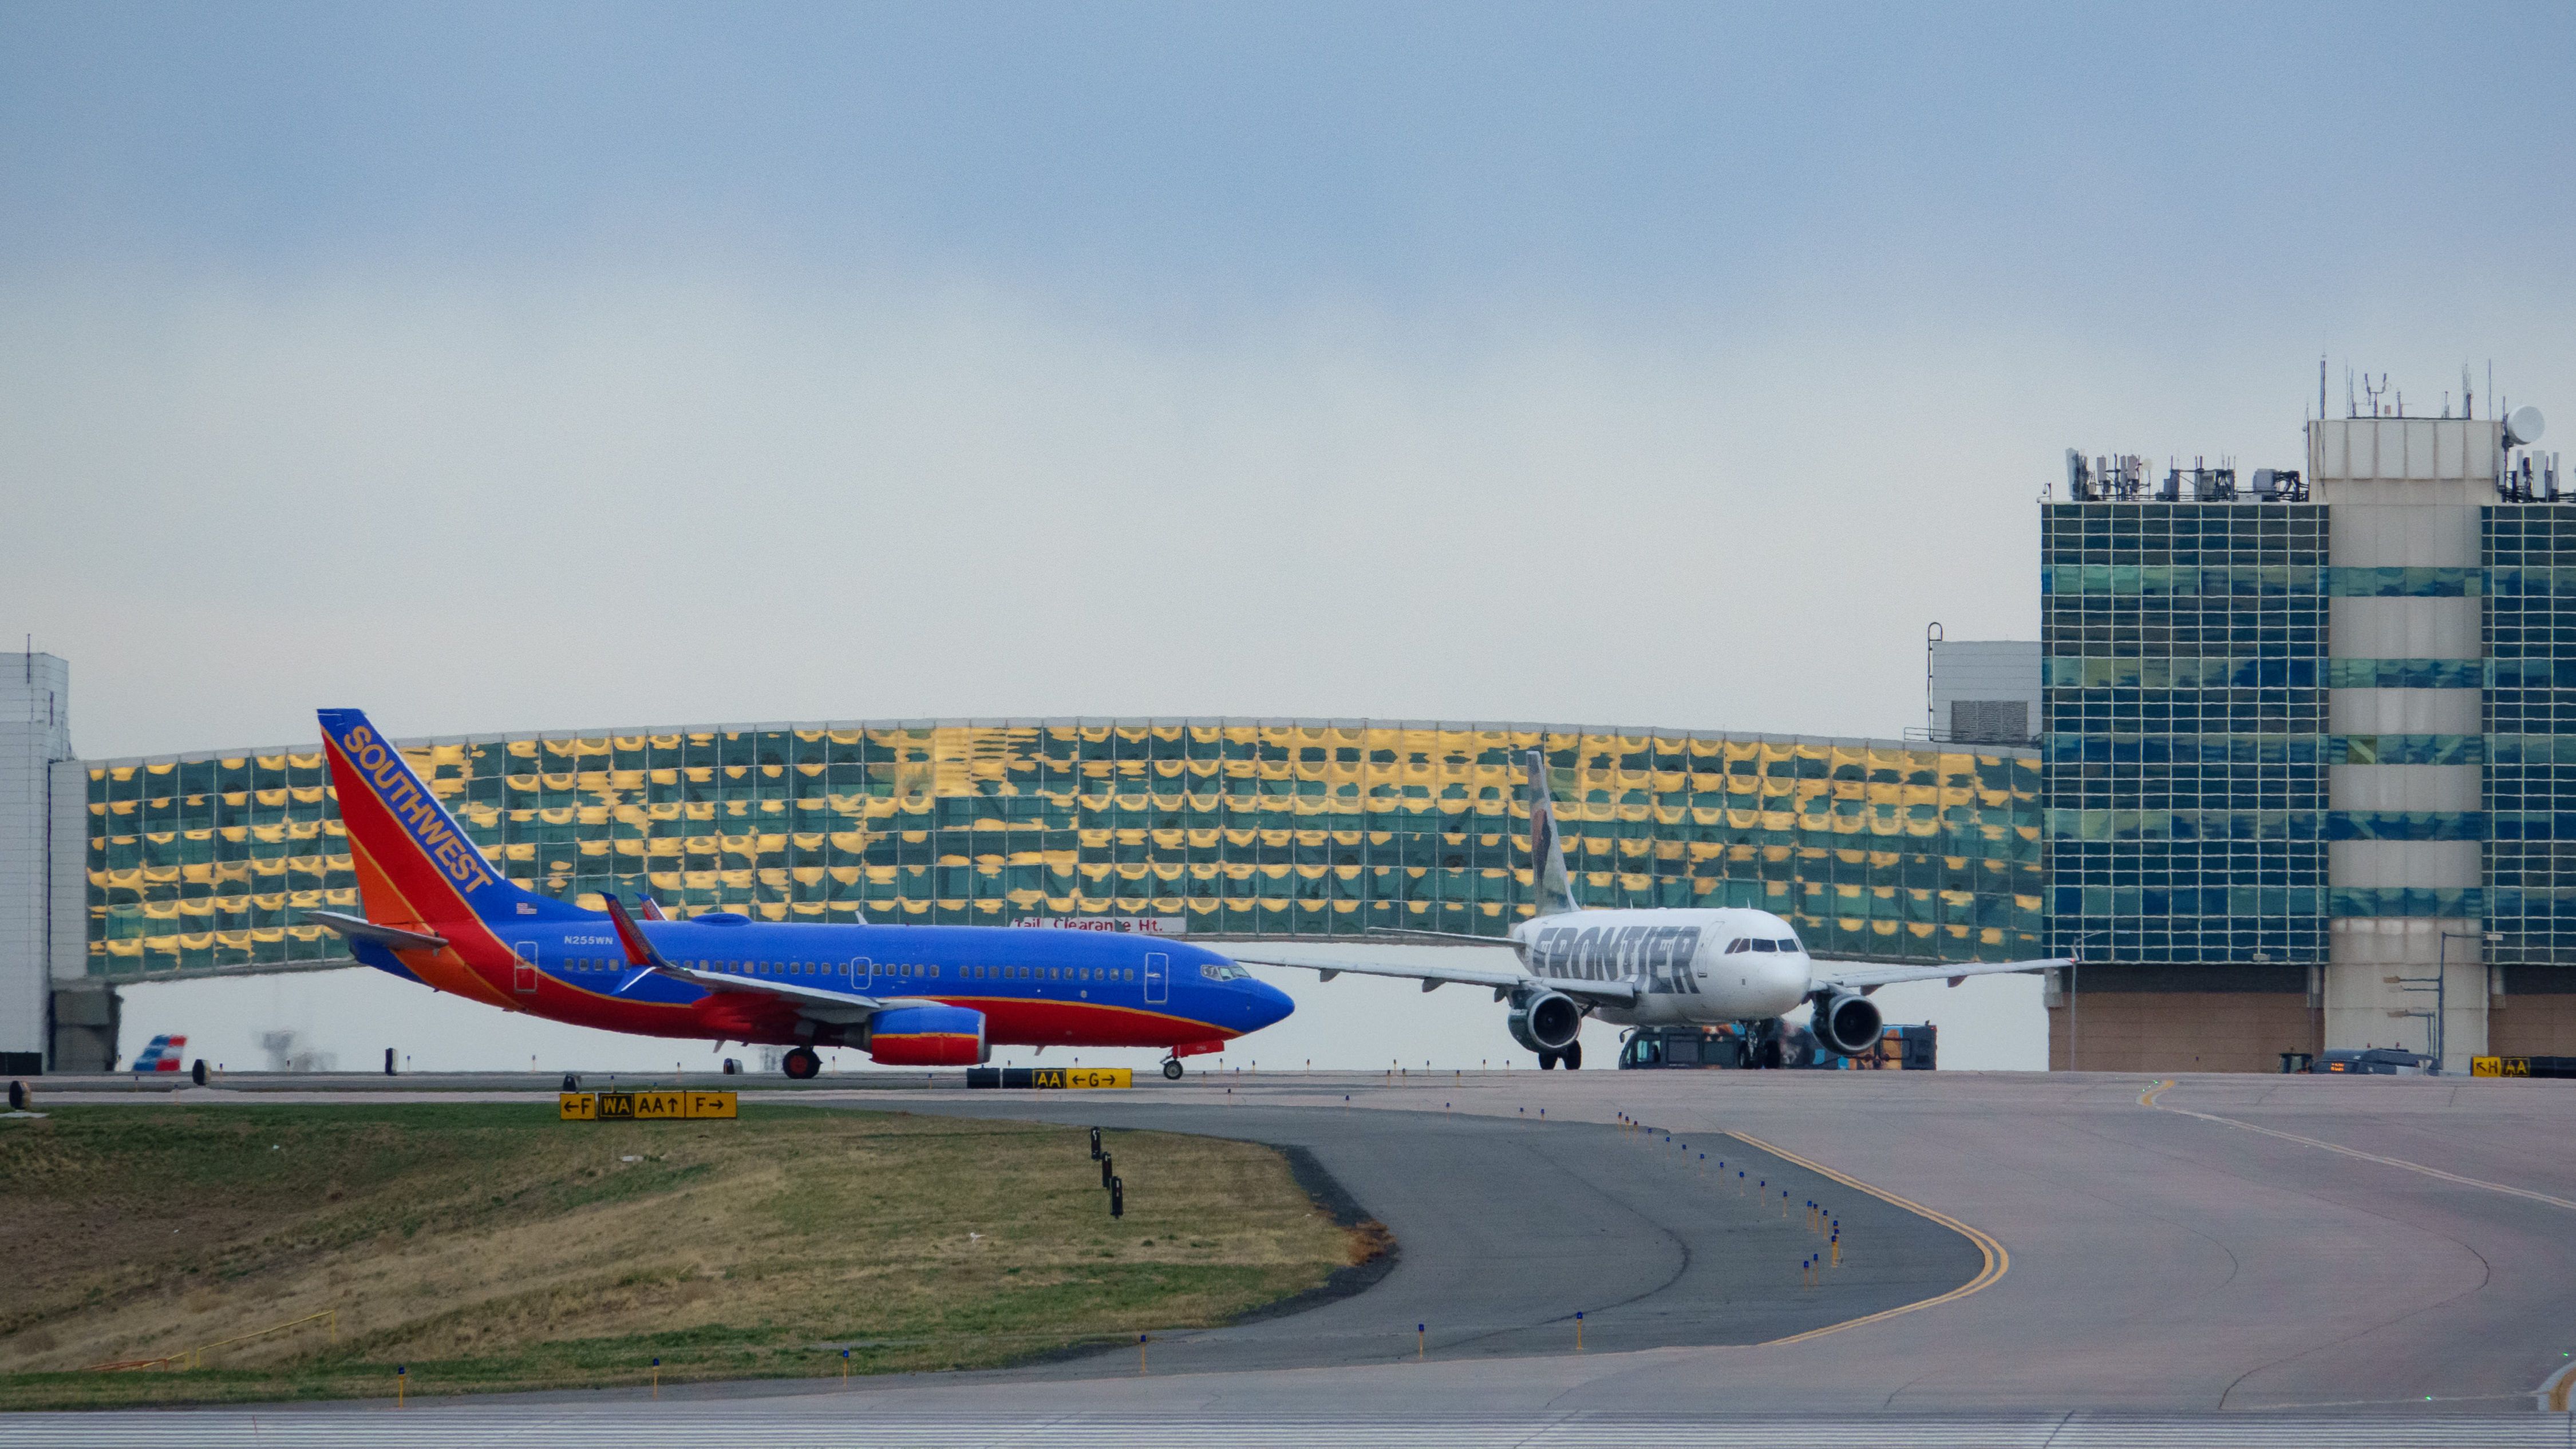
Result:
{"type": "MultiPolygon", "coordinates": [[[[2035,752],[1401,723],[853,723],[417,741],[533,891],[675,914],[1208,937],[1502,934],[1528,914],[1522,752],[1589,906],[1762,906],[1816,952],[1999,960],[2043,937],[2035,752]]],[[[317,749],[93,762],[90,970],[294,968],[353,909],[317,749]]]]}

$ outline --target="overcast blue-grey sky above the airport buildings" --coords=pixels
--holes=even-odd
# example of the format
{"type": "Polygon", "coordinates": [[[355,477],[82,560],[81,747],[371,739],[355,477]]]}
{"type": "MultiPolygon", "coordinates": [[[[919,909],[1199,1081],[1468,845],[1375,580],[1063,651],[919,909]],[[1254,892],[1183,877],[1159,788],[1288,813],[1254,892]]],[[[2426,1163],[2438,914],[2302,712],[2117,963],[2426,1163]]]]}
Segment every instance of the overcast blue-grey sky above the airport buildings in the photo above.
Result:
{"type": "Polygon", "coordinates": [[[1888,736],[2066,445],[2576,425],[2566,5],[0,3],[82,754],[917,715],[1888,736]],[[2483,412],[2483,407],[2481,407],[2483,412]]]}

